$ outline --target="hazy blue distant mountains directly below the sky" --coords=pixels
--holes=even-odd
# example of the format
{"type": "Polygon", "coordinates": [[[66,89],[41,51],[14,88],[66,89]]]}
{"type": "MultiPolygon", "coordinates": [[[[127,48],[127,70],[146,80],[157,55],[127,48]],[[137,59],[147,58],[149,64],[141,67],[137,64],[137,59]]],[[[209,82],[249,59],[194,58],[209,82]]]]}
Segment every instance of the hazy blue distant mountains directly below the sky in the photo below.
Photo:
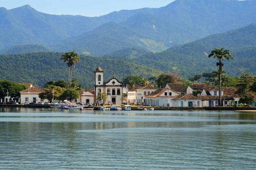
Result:
{"type": "Polygon", "coordinates": [[[49,15],[29,5],[1,7],[0,51],[41,44],[52,51],[76,50],[93,56],[133,47],[159,52],[256,23],[255,9],[255,0],[176,0],[160,8],[84,17],[49,15]]]}

